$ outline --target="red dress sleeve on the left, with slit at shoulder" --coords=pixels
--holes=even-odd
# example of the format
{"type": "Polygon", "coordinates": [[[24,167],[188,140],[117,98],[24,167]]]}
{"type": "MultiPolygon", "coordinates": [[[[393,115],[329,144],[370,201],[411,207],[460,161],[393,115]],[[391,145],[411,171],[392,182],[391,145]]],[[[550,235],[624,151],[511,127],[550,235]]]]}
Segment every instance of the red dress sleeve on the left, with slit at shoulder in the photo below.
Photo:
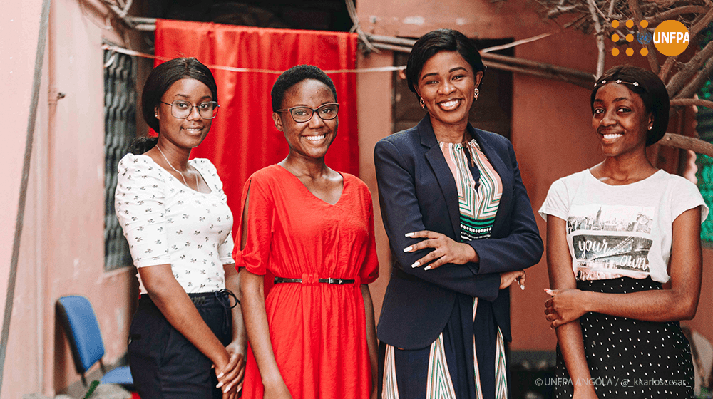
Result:
{"type": "Polygon", "coordinates": [[[252,274],[264,275],[267,271],[267,261],[270,257],[272,220],[275,215],[275,204],[270,194],[267,182],[252,175],[242,189],[242,202],[240,207],[240,223],[235,237],[233,257],[235,266],[245,267],[252,274]],[[243,219],[247,202],[247,219],[243,219]],[[242,247],[242,224],[247,223],[247,236],[245,247],[242,247]]]}

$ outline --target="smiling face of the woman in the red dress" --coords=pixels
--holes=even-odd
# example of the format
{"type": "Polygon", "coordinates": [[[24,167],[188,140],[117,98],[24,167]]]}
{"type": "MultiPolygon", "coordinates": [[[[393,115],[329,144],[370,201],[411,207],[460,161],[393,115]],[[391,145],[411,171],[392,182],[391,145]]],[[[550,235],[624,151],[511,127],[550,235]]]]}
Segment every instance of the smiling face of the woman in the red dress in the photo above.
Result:
{"type": "MultiPolygon", "coordinates": [[[[299,106],[318,108],[320,105],[336,102],[327,85],[314,79],[306,79],[285,91],[281,109],[299,106]]],[[[275,121],[277,130],[284,133],[291,156],[322,159],[327,154],[329,145],[332,145],[337,137],[339,117],[323,120],[314,112],[307,122],[295,122],[289,111],[282,111],[272,113],[272,120],[275,121]]]]}

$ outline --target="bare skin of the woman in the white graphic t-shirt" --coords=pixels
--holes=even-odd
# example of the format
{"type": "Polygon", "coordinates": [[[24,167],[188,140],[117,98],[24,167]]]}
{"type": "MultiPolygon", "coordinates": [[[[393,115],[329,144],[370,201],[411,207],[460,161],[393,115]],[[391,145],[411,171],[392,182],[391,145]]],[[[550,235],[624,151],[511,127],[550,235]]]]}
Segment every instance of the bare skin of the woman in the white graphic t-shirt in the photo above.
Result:
{"type": "MultiPolygon", "coordinates": [[[[604,162],[590,172],[608,185],[628,185],[654,174],[646,156],[646,136],[654,119],[641,98],[625,85],[608,83],[598,90],[592,125],[605,153],[604,162]]],[[[565,366],[574,382],[573,398],[597,398],[590,380],[579,318],[593,311],[643,321],[679,321],[693,318],[702,279],[700,244],[701,209],[689,209],[672,225],[671,284],[662,290],[630,294],[603,294],[576,289],[566,222],[548,215],[547,261],[550,286],[545,290],[545,318],[555,328],[565,366]]]]}

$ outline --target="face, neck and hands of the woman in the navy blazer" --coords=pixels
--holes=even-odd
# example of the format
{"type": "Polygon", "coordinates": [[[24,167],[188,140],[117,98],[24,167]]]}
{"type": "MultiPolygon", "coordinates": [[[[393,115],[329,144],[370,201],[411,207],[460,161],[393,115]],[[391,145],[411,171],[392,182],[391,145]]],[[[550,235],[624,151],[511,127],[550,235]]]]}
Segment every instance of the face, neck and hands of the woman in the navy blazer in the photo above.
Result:
{"type": "MultiPolygon", "coordinates": [[[[441,51],[429,58],[421,69],[416,93],[424,100],[431,115],[431,125],[436,139],[441,142],[468,142],[468,112],[473,105],[473,91],[481,82],[483,72],[473,73],[473,67],[456,51],[441,51]]],[[[426,270],[444,264],[478,263],[480,258],[473,247],[456,242],[439,232],[423,230],[411,232],[406,237],[423,239],[404,252],[433,248],[434,250],[416,261],[411,267],[426,265],[426,270]]],[[[508,271],[501,274],[500,289],[506,289],[517,281],[525,289],[525,271],[508,271]]]]}

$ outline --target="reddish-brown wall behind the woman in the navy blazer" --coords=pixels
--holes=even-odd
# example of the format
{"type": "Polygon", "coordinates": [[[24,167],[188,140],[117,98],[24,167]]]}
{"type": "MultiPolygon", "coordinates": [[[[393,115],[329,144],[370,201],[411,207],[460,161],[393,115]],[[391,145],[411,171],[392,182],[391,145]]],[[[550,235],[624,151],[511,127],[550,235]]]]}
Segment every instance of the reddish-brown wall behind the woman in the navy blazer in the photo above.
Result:
{"type": "MultiPolygon", "coordinates": [[[[361,28],[366,33],[416,38],[435,28],[454,28],[471,38],[513,38],[520,40],[540,33],[548,38],[515,48],[515,56],[557,66],[595,72],[596,46],[593,36],[563,30],[535,13],[533,2],[488,0],[426,1],[402,0],[397,3],[361,0],[358,4],[361,28]]],[[[566,22],[566,21],[560,21],[566,22]]],[[[393,53],[382,51],[359,58],[359,67],[390,65],[393,53]]],[[[635,63],[646,67],[640,56],[608,56],[606,67],[617,63],[635,63]]],[[[487,80],[488,74],[486,72],[487,80]]],[[[374,142],[392,132],[391,74],[361,73],[359,90],[359,135],[361,137],[361,177],[376,198],[373,160],[374,142]]],[[[513,121],[511,140],[520,164],[523,182],[528,188],[533,210],[544,202],[552,182],[601,162],[597,139],[590,128],[590,90],[570,83],[552,81],[522,73],[513,75],[513,121]]],[[[378,212],[378,211],[377,211],[378,212]]],[[[546,239],[546,225],[537,216],[538,227],[546,239]]],[[[381,277],[372,284],[378,317],[389,279],[388,242],[377,222],[381,277]]],[[[704,269],[713,262],[713,252],[704,251],[704,269]]],[[[694,321],[709,340],[713,318],[712,277],[704,276],[701,304],[694,321]]],[[[555,334],[545,321],[543,310],[548,287],[545,257],[528,269],[527,289],[512,292],[514,351],[553,351],[555,334]]]]}

